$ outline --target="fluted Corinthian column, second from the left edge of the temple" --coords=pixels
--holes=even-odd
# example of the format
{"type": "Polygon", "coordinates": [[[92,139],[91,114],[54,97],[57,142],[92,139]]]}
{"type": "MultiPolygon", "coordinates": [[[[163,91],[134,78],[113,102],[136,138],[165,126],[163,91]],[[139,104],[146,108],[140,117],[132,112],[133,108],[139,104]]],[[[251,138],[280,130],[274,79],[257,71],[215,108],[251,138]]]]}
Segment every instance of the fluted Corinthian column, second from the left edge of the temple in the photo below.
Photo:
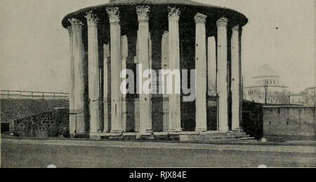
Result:
{"type": "Polygon", "coordinates": [[[74,114],[77,134],[85,134],[84,123],[84,45],[82,43],[83,24],[77,19],[70,19],[73,34],[74,55],[74,114]]]}

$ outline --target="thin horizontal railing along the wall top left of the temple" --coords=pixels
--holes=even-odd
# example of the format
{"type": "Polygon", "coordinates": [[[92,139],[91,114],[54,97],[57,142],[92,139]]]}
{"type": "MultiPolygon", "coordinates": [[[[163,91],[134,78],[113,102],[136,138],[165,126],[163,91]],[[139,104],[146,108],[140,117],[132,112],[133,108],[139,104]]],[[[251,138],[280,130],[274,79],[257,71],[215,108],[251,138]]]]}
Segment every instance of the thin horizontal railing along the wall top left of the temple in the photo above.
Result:
{"type": "Polygon", "coordinates": [[[68,99],[66,92],[35,92],[22,90],[0,90],[2,99],[68,99]]]}

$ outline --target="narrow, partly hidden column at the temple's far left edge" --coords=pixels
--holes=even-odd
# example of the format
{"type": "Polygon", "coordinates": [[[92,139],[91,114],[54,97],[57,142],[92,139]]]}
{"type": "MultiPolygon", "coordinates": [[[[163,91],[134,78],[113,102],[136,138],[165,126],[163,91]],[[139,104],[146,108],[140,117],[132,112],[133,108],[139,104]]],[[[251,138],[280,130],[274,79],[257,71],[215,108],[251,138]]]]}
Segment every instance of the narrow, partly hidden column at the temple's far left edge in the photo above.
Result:
{"type": "Polygon", "coordinates": [[[70,128],[70,136],[74,136],[74,132],[76,130],[76,116],[74,113],[74,43],[73,43],[73,32],[72,26],[68,27],[69,36],[70,36],[70,91],[69,91],[69,128],[70,128]]]}

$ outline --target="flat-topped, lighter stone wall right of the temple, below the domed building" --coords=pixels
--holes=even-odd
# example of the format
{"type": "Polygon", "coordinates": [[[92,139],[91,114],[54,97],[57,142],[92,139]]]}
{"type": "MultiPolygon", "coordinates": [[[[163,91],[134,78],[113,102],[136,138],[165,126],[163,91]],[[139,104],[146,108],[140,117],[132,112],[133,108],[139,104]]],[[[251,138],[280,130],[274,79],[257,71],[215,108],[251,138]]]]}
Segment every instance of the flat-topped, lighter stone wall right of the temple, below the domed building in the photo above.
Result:
{"type": "Polygon", "coordinates": [[[314,106],[263,106],[263,134],[270,140],[314,139],[314,106]]]}

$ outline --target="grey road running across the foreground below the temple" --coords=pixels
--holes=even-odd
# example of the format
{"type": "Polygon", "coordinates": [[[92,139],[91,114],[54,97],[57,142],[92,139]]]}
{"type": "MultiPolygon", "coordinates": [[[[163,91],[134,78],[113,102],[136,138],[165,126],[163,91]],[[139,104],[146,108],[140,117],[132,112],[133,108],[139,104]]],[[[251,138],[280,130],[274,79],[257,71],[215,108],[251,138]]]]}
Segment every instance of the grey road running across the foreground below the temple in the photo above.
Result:
{"type": "Polygon", "coordinates": [[[1,167],[315,167],[314,146],[1,140],[1,167]]]}

